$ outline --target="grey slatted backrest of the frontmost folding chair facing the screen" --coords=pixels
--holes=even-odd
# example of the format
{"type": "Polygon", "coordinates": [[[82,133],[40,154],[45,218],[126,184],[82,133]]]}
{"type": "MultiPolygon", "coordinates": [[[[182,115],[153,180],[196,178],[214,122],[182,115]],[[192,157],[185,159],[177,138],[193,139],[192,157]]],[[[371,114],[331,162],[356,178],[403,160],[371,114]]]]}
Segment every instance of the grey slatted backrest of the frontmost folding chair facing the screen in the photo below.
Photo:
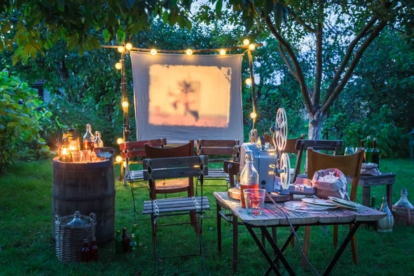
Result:
{"type": "Polygon", "coordinates": [[[142,162],[144,180],[204,177],[208,175],[208,156],[150,158],[142,162]]]}

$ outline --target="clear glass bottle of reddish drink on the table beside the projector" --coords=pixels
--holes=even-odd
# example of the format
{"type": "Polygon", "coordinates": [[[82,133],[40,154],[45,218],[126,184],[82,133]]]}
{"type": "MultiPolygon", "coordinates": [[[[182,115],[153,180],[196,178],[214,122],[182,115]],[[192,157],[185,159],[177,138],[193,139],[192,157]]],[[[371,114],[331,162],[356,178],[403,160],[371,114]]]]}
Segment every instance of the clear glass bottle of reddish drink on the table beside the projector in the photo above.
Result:
{"type": "Polygon", "coordinates": [[[244,201],[244,189],[259,188],[259,173],[255,169],[253,152],[246,150],[246,165],[240,173],[240,204],[242,208],[246,208],[246,201],[244,201]]]}

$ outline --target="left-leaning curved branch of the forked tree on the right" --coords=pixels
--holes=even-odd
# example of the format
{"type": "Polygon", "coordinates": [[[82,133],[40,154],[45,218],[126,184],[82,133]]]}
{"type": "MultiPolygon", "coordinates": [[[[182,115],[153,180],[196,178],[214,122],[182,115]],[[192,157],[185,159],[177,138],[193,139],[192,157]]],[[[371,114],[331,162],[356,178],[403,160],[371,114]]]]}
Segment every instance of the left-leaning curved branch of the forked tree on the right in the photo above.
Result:
{"type": "Polygon", "coordinates": [[[306,109],[308,110],[309,114],[313,114],[314,110],[313,110],[311,96],[310,96],[311,91],[309,90],[308,86],[306,86],[304,73],[302,72],[302,68],[299,65],[299,61],[297,60],[295,52],[293,52],[292,46],[290,46],[290,43],[288,43],[288,41],[286,41],[282,37],[282,35],[280,35],[279,32],[277,32],[275,26],[273,26],[273,23],[270,20],[270,17],[266,15],[264,16],[264,20],[266,21],[266,24],[268,28],[270,29],[270,32],[272,32],[272,34],[275,36],[277,41],[279,41],[279,43],[282,44],[286,52],[288,52],[290,60],[292,61],[293,66],[295,67],[295,71],[297,74],[297,81],[299,81],[300,90],[302,92],[302,97],[304,98],[306,109]]]}

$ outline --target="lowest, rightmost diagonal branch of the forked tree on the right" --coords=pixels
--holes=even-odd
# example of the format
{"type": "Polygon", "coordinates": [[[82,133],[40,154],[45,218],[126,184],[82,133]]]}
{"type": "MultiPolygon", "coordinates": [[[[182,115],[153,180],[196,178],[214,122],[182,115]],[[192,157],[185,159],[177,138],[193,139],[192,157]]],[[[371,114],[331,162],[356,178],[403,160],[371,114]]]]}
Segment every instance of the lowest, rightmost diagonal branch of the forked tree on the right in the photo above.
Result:
{"type": "Polygon", "coordinates": [[[361,46],[359,46],[359,49],[357,52],[355,52],[355,56],[353,57],[353,60],[351,61],[351,64],[349,65],[348,69],[345,72],[344,77],[342,78],[339,85],[333,90],[332,94],[326,99],[324,105],[322,106],[322,112],[327,111],[328,108],[332,105],[333,101],[337,99],[339,96],[339,93],[342,92],[344,89],[344,86],[348,82],[348,80],[351,78],[353,71],[355,70],[355,67],[357,66],[359,59],[361,59],[362,55],[364,54],[366,48],[370,46],[370,44],[373,42],[373,40],[380,35],[380,32],[384,27],[386,26],[386,21],[380,21],[380,23],[374,28],[373,32],[369,35],[367,39],[365,39],[364,43],[362,43],[361,46]]]}

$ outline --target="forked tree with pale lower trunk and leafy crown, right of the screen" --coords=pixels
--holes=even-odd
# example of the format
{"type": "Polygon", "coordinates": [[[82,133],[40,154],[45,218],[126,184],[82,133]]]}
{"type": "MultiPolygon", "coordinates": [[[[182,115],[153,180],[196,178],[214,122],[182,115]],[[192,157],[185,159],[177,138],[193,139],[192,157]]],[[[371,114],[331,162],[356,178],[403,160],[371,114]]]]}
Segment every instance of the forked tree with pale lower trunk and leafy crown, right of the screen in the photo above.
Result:
{"type": "MultiPolygon", "coordinates": [[[[216,6],[221,4],[219,0],[216,6]]],[[[320,139],[326,113],[353,81],[355,67],[380,32],[401,24],[407,33],[411,30],[409,7],[406,1],[386,0],[228,1],[235,17],[242,15],[247,32],[265,25],[279,43],[279,55],[298,83],[308,112],[309,139],[320,139]],[[333,55],[326,45],[337,46],[333,55]]]]}

